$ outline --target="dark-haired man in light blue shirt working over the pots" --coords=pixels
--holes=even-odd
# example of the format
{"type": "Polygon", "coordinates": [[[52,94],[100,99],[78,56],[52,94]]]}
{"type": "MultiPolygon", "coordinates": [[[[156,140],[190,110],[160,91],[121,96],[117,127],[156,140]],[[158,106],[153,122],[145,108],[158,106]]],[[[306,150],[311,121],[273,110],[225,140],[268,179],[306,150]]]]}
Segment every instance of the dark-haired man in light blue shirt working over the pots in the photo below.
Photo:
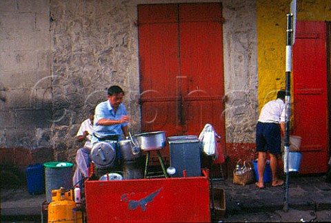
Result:
{"type": "Polygon", "coordinates": [[[108,88],[108,100],[95,108],[92,145],[103,140],[121,140],[122,135],[128,136],[130,116],[122,104],[123,96],[123,89],[113,85],[108,88]]]}

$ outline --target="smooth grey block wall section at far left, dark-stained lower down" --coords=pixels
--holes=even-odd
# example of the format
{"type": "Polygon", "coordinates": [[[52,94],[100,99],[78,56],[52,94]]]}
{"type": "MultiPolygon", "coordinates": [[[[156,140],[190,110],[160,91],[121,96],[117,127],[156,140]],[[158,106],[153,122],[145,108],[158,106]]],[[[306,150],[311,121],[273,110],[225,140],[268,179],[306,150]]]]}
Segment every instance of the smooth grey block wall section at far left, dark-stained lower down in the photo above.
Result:
{"type": "Polygon", "coordinates": [[[47,0],[1,0],[0,147],[50,146],[48,21],[47,0]]]}

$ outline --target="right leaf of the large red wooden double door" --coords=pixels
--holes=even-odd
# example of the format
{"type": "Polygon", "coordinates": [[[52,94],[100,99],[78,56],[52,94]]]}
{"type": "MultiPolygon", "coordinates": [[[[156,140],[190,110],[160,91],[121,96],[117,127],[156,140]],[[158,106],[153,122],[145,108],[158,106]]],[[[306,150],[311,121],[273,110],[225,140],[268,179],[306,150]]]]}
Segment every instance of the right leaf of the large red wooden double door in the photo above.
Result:
{"type": "Polygon", "coordinates": [[[224,136],[221,7],[182,4],[179,12],[183,132],[199,134],[211,123],[224,136]]]}

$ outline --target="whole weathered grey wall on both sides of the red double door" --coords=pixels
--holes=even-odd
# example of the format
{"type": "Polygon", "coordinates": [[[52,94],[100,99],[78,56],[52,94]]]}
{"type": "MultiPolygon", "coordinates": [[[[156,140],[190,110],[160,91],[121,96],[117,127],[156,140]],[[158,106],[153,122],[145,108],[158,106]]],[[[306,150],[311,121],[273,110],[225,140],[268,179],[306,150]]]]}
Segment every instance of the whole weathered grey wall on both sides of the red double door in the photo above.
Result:
{"type": "MultiPolygon", "coordinates": [[[[124,103],[137,122],[132,131],[139,131],[137,5],[182,1],[3,2],[0,25],[5,31],[0,41],[7,44],[0,48],[0,96],[4,98],[0,122],[6,125],[0,127],[0,147],[33,149],[43,142],[54,148],[56,160],[73,161],[79,147],[74,139],[79,124],[90,107],[106,100],[106,89],[112,84],[126,90],[124,103]],[[29,55],[17,56],[21,54],[29,55]],[[21,138],[28,140],[21,143],[21,138]]],[[[257,119],[255,1],[222,3],[226,140],[253,142],[257,119]]]]}

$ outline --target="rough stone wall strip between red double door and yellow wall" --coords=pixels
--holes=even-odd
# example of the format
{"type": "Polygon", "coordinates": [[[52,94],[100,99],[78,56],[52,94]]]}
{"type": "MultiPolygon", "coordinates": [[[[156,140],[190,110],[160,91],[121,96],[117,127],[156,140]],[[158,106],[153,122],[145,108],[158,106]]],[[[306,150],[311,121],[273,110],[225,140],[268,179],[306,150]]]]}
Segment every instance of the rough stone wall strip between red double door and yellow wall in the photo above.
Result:
{"type": "Polygon", "coordinates": [[[226,142],[252,143],[257,103],[257,15],[255,1],[223,1],[226,142]]]}

